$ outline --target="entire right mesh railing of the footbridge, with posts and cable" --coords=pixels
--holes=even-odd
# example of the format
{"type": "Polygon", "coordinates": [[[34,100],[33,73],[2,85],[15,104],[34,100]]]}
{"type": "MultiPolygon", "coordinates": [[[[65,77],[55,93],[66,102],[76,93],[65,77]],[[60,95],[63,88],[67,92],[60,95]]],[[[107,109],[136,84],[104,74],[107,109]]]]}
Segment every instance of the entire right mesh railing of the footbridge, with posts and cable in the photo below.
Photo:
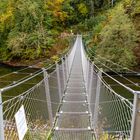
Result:
{"type": "MultiPolygon", "coordinates": [[[[89,110],[96,139],[133,139],[136,113],[136,101],[133,100],[139,92],[105,73],[86,56],[84,49],[82,51],[89,110]]],[[[127,81],[130,82],[129,79],[127,81]]]]}

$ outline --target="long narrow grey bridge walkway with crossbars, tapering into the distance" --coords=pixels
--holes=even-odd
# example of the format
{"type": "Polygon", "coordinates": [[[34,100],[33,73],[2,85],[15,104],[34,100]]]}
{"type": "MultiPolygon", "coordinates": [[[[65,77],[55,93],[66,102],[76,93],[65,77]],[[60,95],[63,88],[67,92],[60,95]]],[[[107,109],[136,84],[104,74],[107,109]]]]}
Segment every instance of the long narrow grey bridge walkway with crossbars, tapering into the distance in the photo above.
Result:
{"type": "MultiPolygon", "coordinates": [[[[80,45],[80,40],[77,45],[80,45]]],[[[92,140],[80,46],[76,47],[52,140],[92,140]]]]}

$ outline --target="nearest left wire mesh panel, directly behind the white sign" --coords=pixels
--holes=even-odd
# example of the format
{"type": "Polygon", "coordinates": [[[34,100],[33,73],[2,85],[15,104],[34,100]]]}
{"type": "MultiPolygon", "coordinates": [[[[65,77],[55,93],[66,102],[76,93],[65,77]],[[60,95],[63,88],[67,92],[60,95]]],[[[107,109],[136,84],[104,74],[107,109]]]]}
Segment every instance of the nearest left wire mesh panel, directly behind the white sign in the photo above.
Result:
{"type": "Polygon", "coordinates": [[[2,103],[5,140],[18,140],[15,114],[22,105],[30,130],[25,140],[36,138],[37,135],[45,139],[46,132],[50,127],[45,95],[45,84],[44,81],[41,81],[25,93],[2,103]]]}

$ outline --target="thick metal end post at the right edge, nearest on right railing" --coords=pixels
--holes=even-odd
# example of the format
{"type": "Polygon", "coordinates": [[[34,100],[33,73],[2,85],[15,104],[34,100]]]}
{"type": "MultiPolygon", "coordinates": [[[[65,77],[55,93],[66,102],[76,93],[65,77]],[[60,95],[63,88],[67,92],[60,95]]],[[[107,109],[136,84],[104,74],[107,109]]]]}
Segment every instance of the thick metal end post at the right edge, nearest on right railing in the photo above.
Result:
{"type": "Polygon", "coordinates": [[[140,139],[140,91],[135,91],[130,140],[140,139]]]}

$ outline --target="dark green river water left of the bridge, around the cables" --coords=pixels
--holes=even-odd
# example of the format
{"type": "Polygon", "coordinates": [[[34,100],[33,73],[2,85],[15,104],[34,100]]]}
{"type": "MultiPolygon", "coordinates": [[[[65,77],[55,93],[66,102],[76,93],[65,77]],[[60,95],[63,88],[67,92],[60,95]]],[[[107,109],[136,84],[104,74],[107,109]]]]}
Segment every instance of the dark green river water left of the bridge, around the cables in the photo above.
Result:
{"type": "MultiPolygon", "coordinates": [[[[36,68],[26,68],[26,67],[10,67],[7,65],[0,65],[0,88],[7,87],[12,85],[13,83],[19,82],[20,80],[26,79],[31,75],[37,73],[39,69],[36,68]],[[18,71],[17,73],[14,73],[18,71]]],[[[2,93],[3,101],[10,99],[13,96],[17,96],[29,88],[33,87],[41,81],[43,75],[40,74],[35,78],[23,83],[15,88],[12,88],[8,91],[2,93]]]]}

